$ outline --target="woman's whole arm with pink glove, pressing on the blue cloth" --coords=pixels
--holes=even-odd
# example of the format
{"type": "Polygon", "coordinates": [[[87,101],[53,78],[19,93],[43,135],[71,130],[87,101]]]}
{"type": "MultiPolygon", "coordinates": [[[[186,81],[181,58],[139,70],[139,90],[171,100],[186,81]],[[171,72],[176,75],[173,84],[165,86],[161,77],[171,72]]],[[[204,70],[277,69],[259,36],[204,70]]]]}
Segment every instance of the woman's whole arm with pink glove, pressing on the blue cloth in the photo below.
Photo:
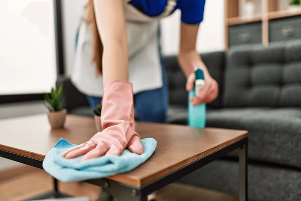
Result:
{"type": "Polygon", "coordinates": [[[128,82],[128,41],[123,9],[124,0],[94,0],[103,56],[101,126],[89,141],[62,154],[66,159],[82,156],[81,161],[102,155],[119,155],[127,147],[136,154],[143,146],[134,127],[133,91],[128,82]]]}

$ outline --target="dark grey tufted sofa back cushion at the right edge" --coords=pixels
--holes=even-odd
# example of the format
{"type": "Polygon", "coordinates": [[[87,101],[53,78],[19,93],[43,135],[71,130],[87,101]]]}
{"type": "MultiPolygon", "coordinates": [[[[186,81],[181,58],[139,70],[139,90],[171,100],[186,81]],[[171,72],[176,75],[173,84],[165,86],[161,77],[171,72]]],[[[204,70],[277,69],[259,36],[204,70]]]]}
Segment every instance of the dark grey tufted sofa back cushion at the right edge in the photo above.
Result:
{"type": "Polygon", "coordinates": [[[301,107],[301,40],[237,46],[227,54],[224,107],[301,107]]]}

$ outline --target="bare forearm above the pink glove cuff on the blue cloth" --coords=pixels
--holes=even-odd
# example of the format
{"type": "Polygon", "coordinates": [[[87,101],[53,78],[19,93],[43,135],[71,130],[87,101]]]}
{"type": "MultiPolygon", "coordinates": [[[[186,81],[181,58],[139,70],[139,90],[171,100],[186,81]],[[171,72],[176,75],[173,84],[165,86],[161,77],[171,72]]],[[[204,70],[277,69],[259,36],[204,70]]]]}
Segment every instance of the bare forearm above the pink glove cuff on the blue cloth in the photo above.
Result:
{"type": "Polygon", "coordinates": [[[94,0],[98,32],[103,44],[104,86],[113,80],[128,81],[128,40],[124,0],[94,0]]]}

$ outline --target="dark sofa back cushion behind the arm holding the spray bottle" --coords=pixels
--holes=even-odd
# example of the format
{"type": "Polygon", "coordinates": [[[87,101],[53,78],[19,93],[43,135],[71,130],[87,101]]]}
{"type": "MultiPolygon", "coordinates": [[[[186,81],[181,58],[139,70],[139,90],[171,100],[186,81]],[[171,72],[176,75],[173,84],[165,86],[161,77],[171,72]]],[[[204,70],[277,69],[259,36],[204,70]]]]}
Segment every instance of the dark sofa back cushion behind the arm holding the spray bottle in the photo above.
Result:
{"type": "MultiPolygon", "coordinates": [[[[201,54],[201,57],[206,64],[211,76],[219,83],[219,90],[222,91],[223,86],[223,70],[224,70],[224,52],[211,52],[201,54]]],[[[182,72],[177,56],[165,56],[163,58],[164,65],[167,72],[167,79],[169,83],[169,96],[171,105],[187,106],[188,93],[185,89],[186,78],[182,72]]],[[[221,107],[221,93],[208,107],[221,107]]]]}

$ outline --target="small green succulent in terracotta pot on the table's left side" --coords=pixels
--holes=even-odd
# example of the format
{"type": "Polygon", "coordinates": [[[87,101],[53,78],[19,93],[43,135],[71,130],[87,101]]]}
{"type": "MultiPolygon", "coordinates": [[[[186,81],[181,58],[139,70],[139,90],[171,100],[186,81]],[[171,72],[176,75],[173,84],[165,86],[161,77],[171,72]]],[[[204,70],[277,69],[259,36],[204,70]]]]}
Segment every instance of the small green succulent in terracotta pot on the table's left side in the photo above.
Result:
{"type": "Polygon", "coordinates": [[[50,94],[44,93],[44,99],[46,106],[49,110],[47,113],[49,124],[52,128],[61,128],[65,124],[66,109],[64,109],[63,102],[61,100],[63,92],[63,85],[59,88],[51,88],[50,94]]]}

